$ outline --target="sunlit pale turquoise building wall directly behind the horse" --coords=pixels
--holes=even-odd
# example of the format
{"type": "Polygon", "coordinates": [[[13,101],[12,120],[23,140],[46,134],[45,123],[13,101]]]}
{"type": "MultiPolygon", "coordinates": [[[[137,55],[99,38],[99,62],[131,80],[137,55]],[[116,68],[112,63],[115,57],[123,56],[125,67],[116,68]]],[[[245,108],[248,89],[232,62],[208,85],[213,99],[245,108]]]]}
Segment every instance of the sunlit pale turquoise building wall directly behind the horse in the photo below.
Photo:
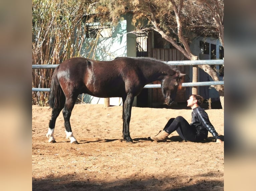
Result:
{"type": "MultiPolygon", "coordinates": [[[[136,35],[128,33],[133,31],[134,27],[127,20],[121,21],[116,27],[112,28],[112,37],[99,38],[98,41],[93,38],[86,38],[84,41],[85,47],[93,42],[96,43],[95,53],[93,54],[90,49],[82,49],[81,56],[85,58],[93,58],[100,61],[110,61],[116,57],[136,57],[136,35]]],[[[83,100],[86,103],[104,104],[104,98],[94,97],[92,95],[84,94],[83,100]]],[[[136,106],[136,98],[134,99],[133,106],[136,106]]],[[[122,105],[120,97],[111,97],[110,105],[122,105]]]]}

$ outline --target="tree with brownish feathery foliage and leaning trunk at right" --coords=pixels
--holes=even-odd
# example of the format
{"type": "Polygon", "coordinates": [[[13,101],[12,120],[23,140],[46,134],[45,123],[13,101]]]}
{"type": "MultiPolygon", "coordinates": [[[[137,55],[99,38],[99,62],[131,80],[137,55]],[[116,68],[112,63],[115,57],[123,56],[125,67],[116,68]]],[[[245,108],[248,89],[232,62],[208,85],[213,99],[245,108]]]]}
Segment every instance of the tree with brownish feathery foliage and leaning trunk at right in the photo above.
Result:
{"type": "MultiPolygon", "coordinates": [[[[132,23],[138,29],[151,28],[189,60],[198,58],[189,44],[196,36],[220,38],[224,46],[224,1],[223,0],[100,0],[96,12],[106,9],[106,15],[116,23],[127,13],[132,13],[132,23]]],[[[106,19],[106,18],[104,18],[106,19]]],[[[219,76],[209,65],[200,65],[214,81],[219,76]]],[[[220,96],[224,86],[214,86],[220,96]]],[[[224,102],[222,102],[224,108],[224,102]]]]}

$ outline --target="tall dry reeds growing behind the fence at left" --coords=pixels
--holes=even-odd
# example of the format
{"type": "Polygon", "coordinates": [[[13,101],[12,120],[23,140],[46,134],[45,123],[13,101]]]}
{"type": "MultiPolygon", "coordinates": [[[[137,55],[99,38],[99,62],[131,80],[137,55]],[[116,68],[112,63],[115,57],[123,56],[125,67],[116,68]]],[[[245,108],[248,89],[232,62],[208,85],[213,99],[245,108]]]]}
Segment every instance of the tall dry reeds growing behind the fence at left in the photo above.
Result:
{"type": "MultiPolygon", "coordinates": [[[[32,65],[59,64],[80,56],[92,0],[32,1],[32,65]]],[[[87,45],[94,50],[94,43],[87,45]]],[[[32,87],[49,88],[53,69],[33,69],[32,87]]],[[[32,92],[32,104],[47,105],[47,92],[32,92]]]]}

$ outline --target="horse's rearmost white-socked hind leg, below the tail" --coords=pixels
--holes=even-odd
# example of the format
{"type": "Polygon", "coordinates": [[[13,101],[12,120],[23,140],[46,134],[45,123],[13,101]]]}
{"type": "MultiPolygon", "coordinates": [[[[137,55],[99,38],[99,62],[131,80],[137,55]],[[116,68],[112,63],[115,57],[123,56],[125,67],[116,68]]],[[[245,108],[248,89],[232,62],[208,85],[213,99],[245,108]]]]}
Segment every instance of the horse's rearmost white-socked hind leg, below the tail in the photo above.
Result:
{"type": "Polygon", "coordinates": [[[62,108],[63,108],[63,106],[60,107],[60,108],[56,108],[56,107],[52,108],[51,119],[49,121],[49,128],[48,128],[48,132],[46,134],[46,137],[49,138],[49,140],[48,140],[49,143],[55,143],[56,142],[55,139],[54,139],[54,136],[53,136],[54,127],[55,127],[56,119],[57,119],[57,117],[58,117],[62,108]]]}

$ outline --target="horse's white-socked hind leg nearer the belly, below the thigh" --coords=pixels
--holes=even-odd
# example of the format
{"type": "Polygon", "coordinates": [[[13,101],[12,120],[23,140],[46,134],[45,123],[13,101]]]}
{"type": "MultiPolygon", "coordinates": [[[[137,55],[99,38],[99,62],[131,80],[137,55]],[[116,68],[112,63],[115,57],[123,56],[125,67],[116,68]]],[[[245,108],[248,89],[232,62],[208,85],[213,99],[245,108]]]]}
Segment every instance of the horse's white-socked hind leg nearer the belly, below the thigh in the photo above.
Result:
{"type": "Polygon", "coordinates": [[[63,113],[63,117],[64,117],[64,125],[66,128],[66,135],[67,135],[66,138],[70,139],[70,143],[78,144],[77,139],[73,135],[73,132],[71,129],[71,124],[70,124],[70,116],[71,116],[72,109],[75,105],[76,98],[77,98],[77,96],[75,98],[67,98],[66,99],[66,103],[62,110],[62,113],[63,113]]]}

